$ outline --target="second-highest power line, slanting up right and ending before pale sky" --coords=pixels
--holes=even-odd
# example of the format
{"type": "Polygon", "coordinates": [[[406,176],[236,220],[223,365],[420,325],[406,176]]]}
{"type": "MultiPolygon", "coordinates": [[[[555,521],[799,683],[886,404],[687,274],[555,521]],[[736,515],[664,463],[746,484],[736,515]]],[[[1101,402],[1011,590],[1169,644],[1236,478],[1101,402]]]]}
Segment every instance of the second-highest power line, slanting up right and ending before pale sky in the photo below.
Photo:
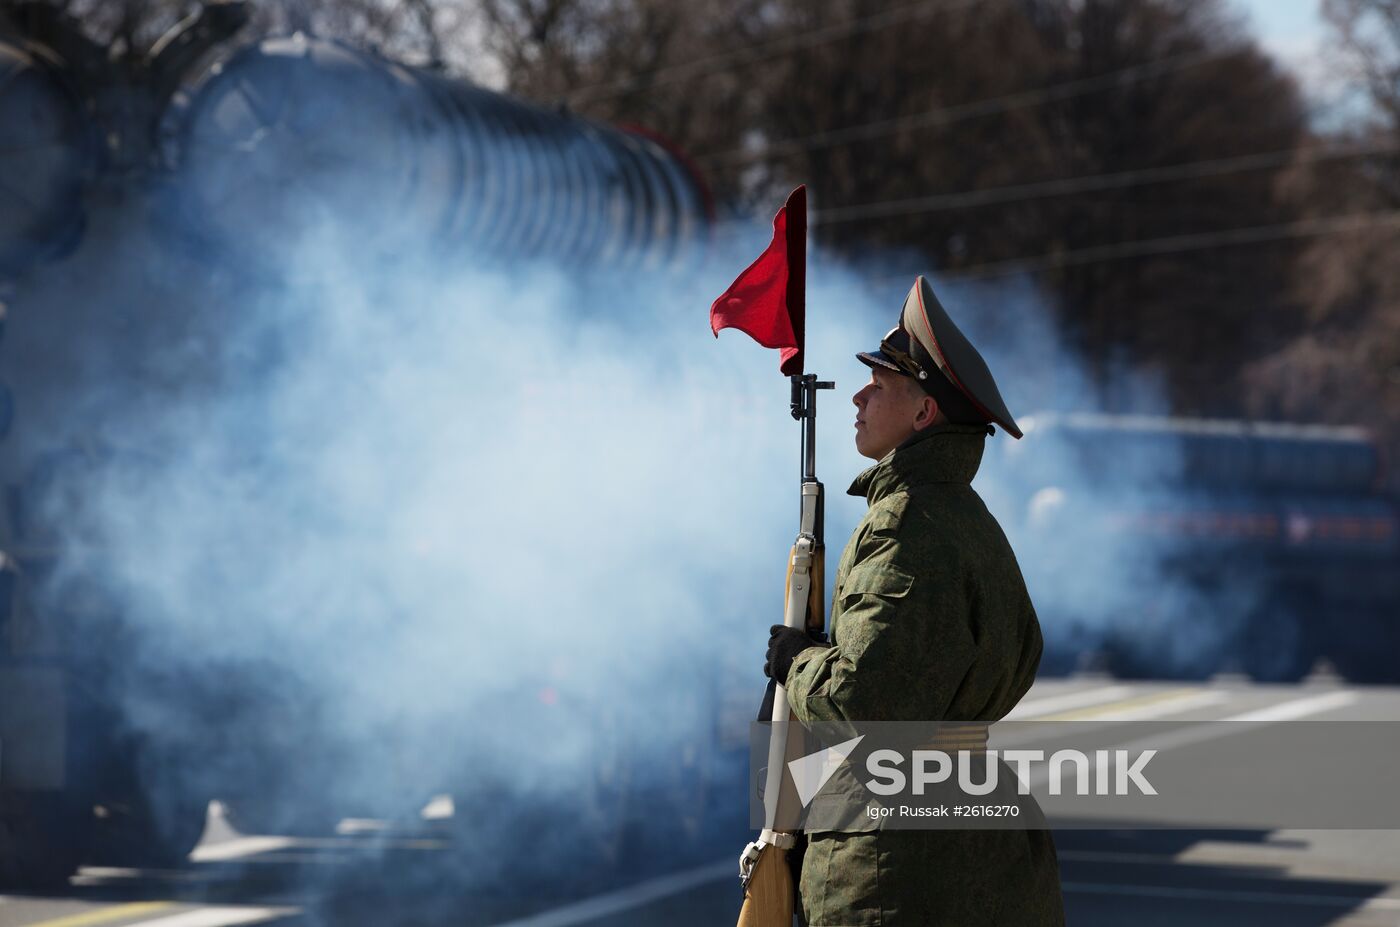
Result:
{"type": "Polygon", "coordinates": [[[1162,77],[1165,74],[1173,74],[1176,71],[1198,67],[1200,64],[1229,57],[1232,55],[1242,55],[1243,52],[1245,49],[1232,48],[1218,52],[1173,55],[1155,62],[1134,64],[1131,67],[1107,71],[1105,74],[1095,74],[1093,77],[1081,77],[1060,84],[1051,84],[1050,87],[1039,87],[1035,90],[1018,91],[1015,94],[1002,94],[1000,97],[974,99],[966,104],[955,104],[952,106],[938,106],[920,113],[892,116],[889,119],[878,119],[875,122],[843,126],[840,129],[827,129],[825,132],[815,132],[806,136],[771,141],[764,144],[762,148],[731,148],[728,151],[713,151],[696,155],[696,160],[706,164],[757,161],[760,158],[783,157],[787,154],[798,154],[801,151],[816,151],[820,148],[848,144],[851,141],[868,141],[869,139],[889,136],[903,129],[949,126],[976,116],[990,116],[1000,112],[1009,112],[1012,109],[1039,106],[1042,104],[1072,99],[1074,97],[1082,97],[1085,94],[1092,94],[1112,87],[1135,84],[1152,77],[1162,77]]]}

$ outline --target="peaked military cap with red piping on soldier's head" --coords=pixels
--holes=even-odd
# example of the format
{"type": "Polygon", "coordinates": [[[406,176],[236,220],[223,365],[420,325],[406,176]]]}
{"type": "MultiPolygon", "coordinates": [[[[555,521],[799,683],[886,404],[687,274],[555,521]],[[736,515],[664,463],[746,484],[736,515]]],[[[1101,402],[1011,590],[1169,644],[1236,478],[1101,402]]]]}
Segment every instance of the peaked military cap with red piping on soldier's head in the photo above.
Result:
{"type": "Polygon", "coordinates": [[[878,349],[855,357],[867,367],[883,367],[917,379],[924,392],[938,400],[949,421],[1000,424],[1011,437],[1021,437],[987,361],[948,316],[934,288],[921,276],[914,279],[904,297],[899,325],[889,330],[878,349]]]}

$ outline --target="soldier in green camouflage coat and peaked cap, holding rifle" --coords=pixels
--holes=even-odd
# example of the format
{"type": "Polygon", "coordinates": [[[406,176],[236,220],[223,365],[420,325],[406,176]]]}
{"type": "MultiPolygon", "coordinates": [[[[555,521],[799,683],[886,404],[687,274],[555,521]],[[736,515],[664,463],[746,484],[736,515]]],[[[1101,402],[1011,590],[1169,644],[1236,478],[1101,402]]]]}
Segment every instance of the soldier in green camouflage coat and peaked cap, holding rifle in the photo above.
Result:
{"type": "MultiPolygon", "coordinates": [[[[1004,717],[1035,681],[1040,625],[997,521],[972,489],[994,428],[1021,437],[987,364],[924,277],[878,350],[857,354],[848,490],[869,504],[841,555],[832,643],[774,625],[764,672],[802,724],[1004,717]]],[[[812,927],[1063,924],[1050,832],[808,833],[812,927]]]]}

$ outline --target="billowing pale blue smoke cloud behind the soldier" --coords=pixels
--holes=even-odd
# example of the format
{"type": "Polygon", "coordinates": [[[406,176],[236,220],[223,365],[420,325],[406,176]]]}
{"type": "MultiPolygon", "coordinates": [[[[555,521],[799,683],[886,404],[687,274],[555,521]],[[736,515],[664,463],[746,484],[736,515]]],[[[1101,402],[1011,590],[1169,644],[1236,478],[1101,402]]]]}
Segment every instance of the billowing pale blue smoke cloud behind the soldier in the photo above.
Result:
{"type": "MultiPolygon", "coordinates": [[[[766,223],[626,276],[364,260],[329,225],[252,277],[171,248],[157,207],[98,220],[27,281],[6,354],[15,459],[62,555],[42,608],[71,618],[64,646],[157,745],[148,787],[242,804],[253,829],[409,816],[448,793],[498,856],[491,835],[525,811],[587,830],[696,812],[707,772],[736,781],[706,755],[725,723],[743,749],[763,690],[799,448],[777,354],[715,340],[707,308],[766,223]],[[619,758],[629,772],[608,773],[619,758]]],[[[910,283],[882,273],[816,253],[809,279],[808,370],[837,382],[818,455],[833,567],[864,511],[844,493],[868,465],[854,351],[910,283]]],[[[1032,288],[935,286],[1019,416],[1102,407],[1032,288]]],[[[1140,410],[1158,402],[1124,382],[1140,410]]],[[[1063,669],[1179,594],[1162,550],[1106,549],[1089,514],[1176,464],[1009,445],[990,441],[976,486],[1063,669]]]]}

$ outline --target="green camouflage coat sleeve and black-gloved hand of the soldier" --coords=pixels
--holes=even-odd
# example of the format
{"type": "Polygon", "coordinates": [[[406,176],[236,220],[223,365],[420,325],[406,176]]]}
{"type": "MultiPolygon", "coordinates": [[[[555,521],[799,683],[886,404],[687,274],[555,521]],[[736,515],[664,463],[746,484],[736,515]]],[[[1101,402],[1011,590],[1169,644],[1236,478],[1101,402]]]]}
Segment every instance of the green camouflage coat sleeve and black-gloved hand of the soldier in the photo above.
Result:
{"type": "Polygon", "coordinates": [[[956,552],[917,570],[897,538],[861,543],[841,587],[834,647],[798,655],[788,703],[799,721],[939,721],[974,657],[956,552]]]}

